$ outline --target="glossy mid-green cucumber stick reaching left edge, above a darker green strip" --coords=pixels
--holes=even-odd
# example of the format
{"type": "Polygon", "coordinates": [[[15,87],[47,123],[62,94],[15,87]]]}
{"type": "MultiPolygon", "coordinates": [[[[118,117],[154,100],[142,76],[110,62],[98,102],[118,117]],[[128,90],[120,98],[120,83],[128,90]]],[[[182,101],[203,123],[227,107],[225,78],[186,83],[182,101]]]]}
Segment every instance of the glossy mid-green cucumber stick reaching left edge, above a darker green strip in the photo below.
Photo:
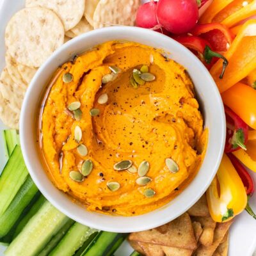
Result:
{"type": "Polygon", "coordinates": [[[5,236],[11,230],[15,222],[19,219],[22,211],[36,195],[38,188],[30,176],[27,177],[20,190],[13,198],[6,211],[0,216],[0,237],[5,236]]]}

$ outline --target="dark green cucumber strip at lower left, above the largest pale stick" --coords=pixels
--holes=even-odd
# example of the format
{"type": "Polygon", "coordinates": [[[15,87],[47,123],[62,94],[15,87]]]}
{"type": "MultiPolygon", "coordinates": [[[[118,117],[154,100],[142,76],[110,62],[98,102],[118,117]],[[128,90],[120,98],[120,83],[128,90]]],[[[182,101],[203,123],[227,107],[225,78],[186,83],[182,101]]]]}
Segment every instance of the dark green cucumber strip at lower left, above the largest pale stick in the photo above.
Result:
{"type": "Polygon", "coordinates": [[[28,221],[36,214],[36,212],[38,212],[45,201],[46,198],[41,194],[36,200],[35,204],[33,204],[31,209],[29,209],[27,214],[19,221],[19,224],[15,228],[13,239],[20,234],[21,230],[27,225],[28,221]]]}

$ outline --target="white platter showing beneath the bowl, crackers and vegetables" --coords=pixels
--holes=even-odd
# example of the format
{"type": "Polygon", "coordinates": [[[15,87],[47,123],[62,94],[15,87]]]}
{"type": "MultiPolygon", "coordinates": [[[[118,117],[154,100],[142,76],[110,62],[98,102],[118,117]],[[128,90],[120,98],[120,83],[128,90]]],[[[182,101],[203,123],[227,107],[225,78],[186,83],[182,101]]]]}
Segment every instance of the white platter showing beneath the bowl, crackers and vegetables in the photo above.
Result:
{"type": "MultiPolygon", "coordinates": [[[[90,1],[90,0],[89,0],[90,1]]],[[[24,7],[25,0],[0,0],[0,70],[4,67],[4,29],[12,15],[24,7]]],[[[4,125],[0,122],[0,131],[4,125]]],[[[0,136],[1,137],[1,136],[0,136]]],[[[0,170],[3,169],[6,158],[3,154],[3,141],[0,138],[0,170]]],[[[256,183],[256,173],[252,173],[256,183]]],[[[252,208],[256,211],[256,195],[250,201],[252,208]]],[[[1,227],[0,227],[1,228],[1,227]]],[[[256,248],[256,220],[247,212],[240,214],[230,229],[230,246],[228,256],[252,256],[256,248]]],[[[0,245],[0,256],[3,256],[4,246],[0,245]]],[[[128,243],[123,243],[115,253],[116,256],[128,256],[132,248],[128,243]]],[[[182,255],[180,255],[182,256],[182,255]]]]}

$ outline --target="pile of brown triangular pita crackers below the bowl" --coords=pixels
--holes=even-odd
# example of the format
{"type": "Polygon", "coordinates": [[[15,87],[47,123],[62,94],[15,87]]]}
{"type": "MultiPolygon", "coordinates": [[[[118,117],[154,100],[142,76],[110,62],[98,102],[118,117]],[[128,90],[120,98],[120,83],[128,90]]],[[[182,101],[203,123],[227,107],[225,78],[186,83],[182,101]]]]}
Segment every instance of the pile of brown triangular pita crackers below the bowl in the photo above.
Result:
{"type": "Polygon", "coordinates": [[[129,243],[147,256],[227,256],[231,224],[212,220],[204,195],[179,218],[161,227],[131,233],[129,243]]]}

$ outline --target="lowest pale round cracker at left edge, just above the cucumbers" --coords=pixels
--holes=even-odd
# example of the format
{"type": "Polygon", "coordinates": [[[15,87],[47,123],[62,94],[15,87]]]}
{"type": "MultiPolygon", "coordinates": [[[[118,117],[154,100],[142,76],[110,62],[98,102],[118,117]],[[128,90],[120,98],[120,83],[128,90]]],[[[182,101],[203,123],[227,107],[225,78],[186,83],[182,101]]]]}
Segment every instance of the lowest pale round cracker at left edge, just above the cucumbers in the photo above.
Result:
{"type": "Polygon", "coordinates": [[[13,111],[8,100],[4,99],[0,92],[0,119],[4,125],[12,128],[19,129],[20,112],[13,111]]]}

